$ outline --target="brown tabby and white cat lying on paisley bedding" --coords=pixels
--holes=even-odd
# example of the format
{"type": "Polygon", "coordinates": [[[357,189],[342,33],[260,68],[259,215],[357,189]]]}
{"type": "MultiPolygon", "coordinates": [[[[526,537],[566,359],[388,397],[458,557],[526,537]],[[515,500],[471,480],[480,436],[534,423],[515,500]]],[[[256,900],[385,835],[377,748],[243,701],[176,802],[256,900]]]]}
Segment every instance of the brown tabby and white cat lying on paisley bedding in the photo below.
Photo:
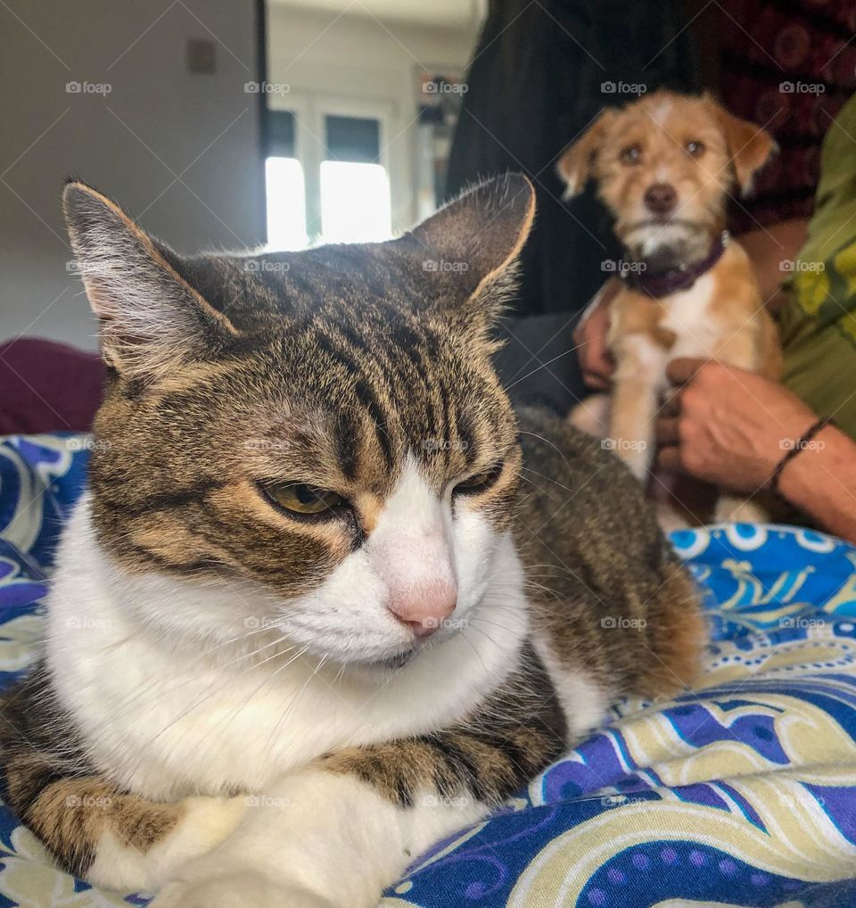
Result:
{"type": "Polygon", "coordinates": [[[68,870],[368,908],[615,698],[693,682],[634,477],[491,364],[525,177],[304,252],[182,258],[79,182],[64,212],[108,377],[2,761],[68,870]]]}

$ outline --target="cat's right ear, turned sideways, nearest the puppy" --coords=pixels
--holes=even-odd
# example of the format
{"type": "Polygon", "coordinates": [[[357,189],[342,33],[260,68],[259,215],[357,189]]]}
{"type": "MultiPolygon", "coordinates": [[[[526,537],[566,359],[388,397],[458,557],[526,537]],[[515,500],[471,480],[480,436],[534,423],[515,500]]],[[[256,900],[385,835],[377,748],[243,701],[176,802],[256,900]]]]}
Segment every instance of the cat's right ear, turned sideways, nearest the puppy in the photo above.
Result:
{"type": "Polygon", "coordinates": [[[489,319],[492,304],[504,302],[489,291],[508,283],[534,219],[532,183],[522,173],[506,173],[448,202],[398,242],[408,244],[436,285],[434,308],[472,301],[466,308],[489,319]]]}

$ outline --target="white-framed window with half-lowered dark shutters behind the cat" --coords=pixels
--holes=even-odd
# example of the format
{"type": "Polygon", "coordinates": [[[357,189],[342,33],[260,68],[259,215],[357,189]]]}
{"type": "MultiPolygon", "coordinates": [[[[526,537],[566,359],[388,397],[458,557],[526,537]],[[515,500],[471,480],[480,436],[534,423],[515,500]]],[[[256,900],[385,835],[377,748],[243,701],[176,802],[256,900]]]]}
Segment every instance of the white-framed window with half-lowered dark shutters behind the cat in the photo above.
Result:
{"type": "Polygon", "coordinates": [[[392,203],[382,117],[302,106],[297,115],[268,112],[269,247],[388,240],[392,203]]]}

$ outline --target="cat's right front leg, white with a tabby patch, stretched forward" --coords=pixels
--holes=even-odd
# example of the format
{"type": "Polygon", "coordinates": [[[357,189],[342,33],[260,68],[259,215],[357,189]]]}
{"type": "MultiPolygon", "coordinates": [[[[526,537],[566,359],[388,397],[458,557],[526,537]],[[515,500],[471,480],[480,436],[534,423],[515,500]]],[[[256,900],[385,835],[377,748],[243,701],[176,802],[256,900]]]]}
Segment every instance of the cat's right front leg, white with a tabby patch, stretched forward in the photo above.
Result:
{"type": "Polygon", "coordinates": [[[455,737],[353,748],[283,778],[153,908],[375,908],[419,854],[519,783],[511,756],[455,737]]]}

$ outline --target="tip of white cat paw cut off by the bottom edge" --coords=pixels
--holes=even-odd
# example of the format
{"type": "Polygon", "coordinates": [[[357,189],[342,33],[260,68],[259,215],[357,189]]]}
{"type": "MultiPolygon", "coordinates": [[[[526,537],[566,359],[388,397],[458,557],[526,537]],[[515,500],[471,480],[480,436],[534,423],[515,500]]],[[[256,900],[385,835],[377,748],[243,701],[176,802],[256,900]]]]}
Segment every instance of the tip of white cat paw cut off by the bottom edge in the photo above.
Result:
{"type": "Polygon", "coordinates": [[[231,873],[192,883],[167,883],[149,908],[339,908],[303,889],[259,873],[231,873]]]}

